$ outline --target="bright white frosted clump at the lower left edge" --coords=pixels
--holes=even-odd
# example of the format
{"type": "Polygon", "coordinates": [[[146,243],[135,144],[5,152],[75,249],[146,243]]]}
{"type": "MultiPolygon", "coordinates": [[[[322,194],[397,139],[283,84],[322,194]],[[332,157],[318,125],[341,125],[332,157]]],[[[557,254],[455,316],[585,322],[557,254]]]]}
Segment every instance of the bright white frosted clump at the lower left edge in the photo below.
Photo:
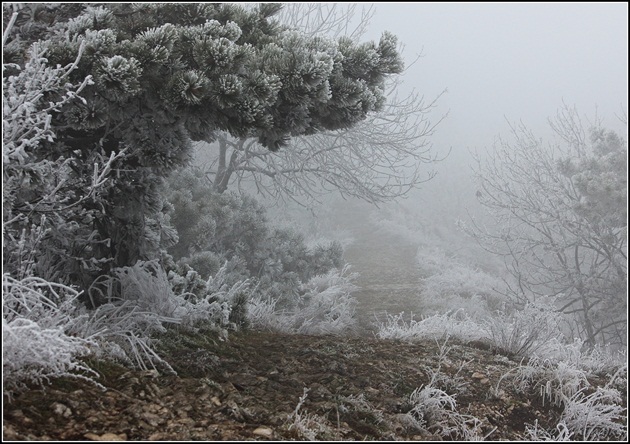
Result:
{"type": "Polygon", "coordinates": [[[59,376],[95,376],[80,362],[96,347],[91,337],[72,335],[80,322],[79,293],[36,277],[2,276],[2,382],[7,390],[59,376]]]}

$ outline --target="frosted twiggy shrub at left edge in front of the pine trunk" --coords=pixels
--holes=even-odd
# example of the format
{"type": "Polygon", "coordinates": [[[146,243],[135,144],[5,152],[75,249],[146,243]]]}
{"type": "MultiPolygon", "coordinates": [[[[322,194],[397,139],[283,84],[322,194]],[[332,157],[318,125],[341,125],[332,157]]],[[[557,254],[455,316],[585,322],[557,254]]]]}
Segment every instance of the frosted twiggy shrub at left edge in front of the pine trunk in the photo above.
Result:
{"type": "Polygon", "coordinates": [[[87,288],[109,262],[98,254],[105,241],[94,225],[123,154],[95,147],[79,159],[57,145],[55,117],[83,103],[80,94],[93,82],[91,76],[69,81],[85,45],[77,45],[67,65],[48,62],[49,46],[32,44],[22,66],[3,64],[3,270],[87,288]],[[76,172],[80,162],[83,173],[76,172]]]}

